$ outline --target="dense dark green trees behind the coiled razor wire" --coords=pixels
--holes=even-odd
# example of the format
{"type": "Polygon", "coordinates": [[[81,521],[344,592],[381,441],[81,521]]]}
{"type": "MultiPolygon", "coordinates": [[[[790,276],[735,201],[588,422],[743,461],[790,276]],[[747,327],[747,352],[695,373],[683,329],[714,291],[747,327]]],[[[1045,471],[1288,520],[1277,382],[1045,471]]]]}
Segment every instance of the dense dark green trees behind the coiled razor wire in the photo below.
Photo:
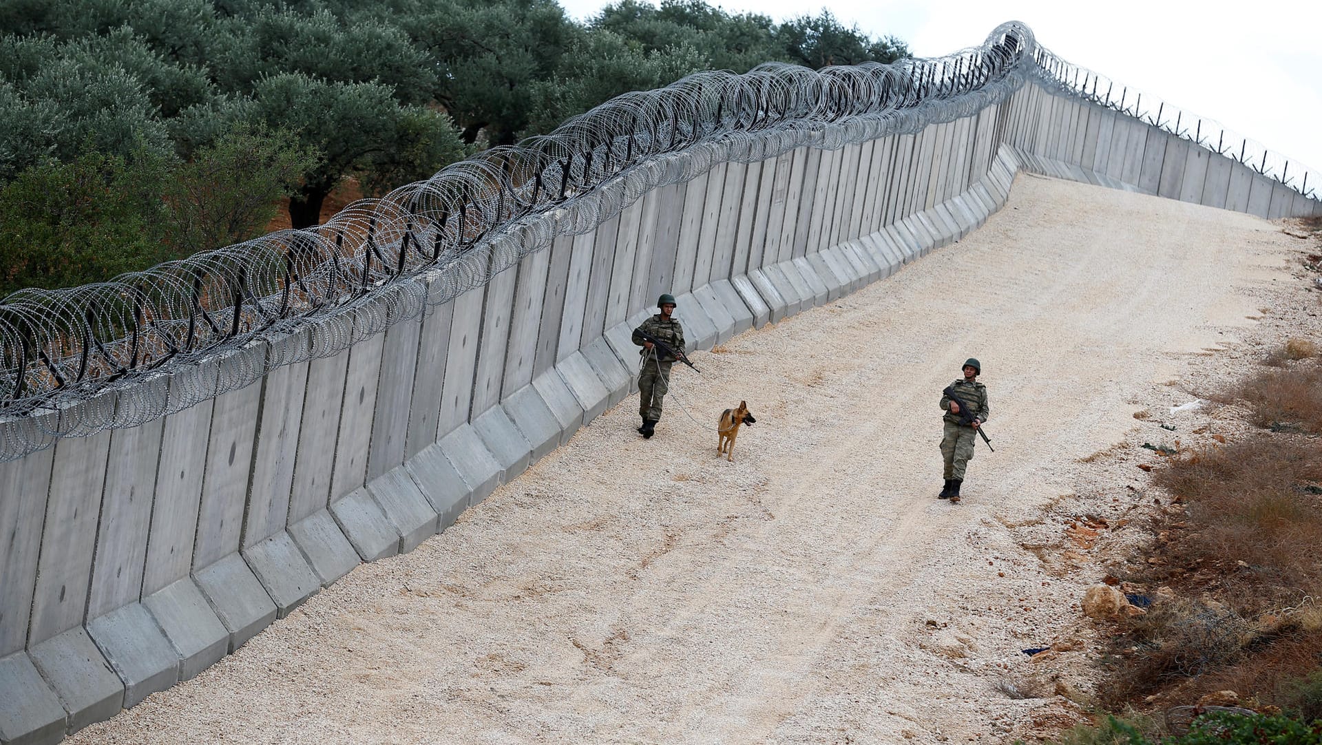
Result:
{"type": "Polygon", "coordinates": [[[703,0],[0,0],[0,295],[259,235],[286,197],[315,225],[346,180],[381,194],[698,70],[907,54],[703,0]]]}

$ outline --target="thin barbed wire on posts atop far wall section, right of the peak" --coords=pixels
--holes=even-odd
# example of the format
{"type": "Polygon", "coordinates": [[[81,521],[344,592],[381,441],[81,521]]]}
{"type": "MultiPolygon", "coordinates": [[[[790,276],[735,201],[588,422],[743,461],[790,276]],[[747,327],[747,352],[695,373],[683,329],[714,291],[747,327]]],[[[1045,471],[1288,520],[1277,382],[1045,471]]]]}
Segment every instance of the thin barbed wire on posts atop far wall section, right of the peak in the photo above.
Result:
{"type": "Polygon", "coordinates": [[[1126,114],[1151,127],[1188,140],[1216,155],[1240,162],[1253,172],[1318,199],[1322,173],[1269,149],[1266,145],[1228,129],[1220,122],[1190,114],[1134,86],[1073,65],[1038,45],[1032,55],[1039,79],[1050,87],[1126,114]]]}

